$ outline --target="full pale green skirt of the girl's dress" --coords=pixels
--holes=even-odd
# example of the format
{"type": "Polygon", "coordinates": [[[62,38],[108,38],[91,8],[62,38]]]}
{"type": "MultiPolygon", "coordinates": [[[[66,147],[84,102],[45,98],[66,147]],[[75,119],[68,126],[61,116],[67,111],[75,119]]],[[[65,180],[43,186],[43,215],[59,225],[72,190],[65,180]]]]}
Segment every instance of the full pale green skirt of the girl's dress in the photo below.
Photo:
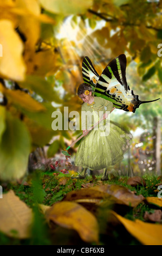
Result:
{"type": "Polygon", "coordinates": [[[110,121],[107,131],[105,133],[105,126],[100,125],[100,129],[83,137],[75,156],[75,166],[101,170],[124,159],[132,134],[114,121],[110,121]]]}

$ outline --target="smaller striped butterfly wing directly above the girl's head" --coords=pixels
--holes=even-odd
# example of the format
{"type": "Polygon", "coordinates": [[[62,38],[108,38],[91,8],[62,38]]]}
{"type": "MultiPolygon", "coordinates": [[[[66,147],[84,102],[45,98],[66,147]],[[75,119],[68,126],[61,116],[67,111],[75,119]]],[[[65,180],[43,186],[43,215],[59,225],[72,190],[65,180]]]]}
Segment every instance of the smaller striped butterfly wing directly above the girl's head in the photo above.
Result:
{"type": "Polygon", "coordinates": [[[85,83],[90,84],[93,90],[95,90],[96,84],[99,80],[99,74],[96,72],[90,59],[86,56],[82,61],[82,76],[85,83]]]}

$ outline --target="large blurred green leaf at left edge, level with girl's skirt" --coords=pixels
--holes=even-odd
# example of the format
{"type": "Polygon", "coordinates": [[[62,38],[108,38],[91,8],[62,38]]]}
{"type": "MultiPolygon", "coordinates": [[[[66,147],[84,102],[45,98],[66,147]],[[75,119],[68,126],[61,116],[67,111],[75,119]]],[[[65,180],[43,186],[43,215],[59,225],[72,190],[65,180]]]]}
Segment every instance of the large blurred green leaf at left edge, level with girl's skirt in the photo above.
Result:
{"type": "Polygon", "coordinates": [[[0,144],[0,179],[20,179],[30,154],[30,135],[26,126],[7,112],[6,129],[0,144]]]}

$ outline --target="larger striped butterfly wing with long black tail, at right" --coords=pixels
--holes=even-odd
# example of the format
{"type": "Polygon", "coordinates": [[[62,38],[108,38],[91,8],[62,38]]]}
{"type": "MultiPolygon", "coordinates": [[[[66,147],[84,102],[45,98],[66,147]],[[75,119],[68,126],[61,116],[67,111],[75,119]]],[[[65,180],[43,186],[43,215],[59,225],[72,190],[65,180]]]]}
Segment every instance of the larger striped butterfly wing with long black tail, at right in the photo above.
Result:
{"type": "Polygon", "coordinates": [[[95,96],[112,101],[116,108],[135,113],[141,103],[152,101],[140,101],[139,96],[130,90],[126,80],[126,65],[125,54],[120,54],[113,59],[99,77],[95,87],[95,96]]]}

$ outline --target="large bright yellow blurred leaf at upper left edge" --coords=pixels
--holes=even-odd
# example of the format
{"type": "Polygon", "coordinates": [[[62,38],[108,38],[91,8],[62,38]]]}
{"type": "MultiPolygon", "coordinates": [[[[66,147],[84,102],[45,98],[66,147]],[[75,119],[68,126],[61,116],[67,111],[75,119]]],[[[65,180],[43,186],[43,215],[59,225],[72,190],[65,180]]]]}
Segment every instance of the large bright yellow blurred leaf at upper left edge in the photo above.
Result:
{"type": "Polygon", "coordinates": [[[24,80],[26,68],[22,58],[23,44],[9,20],[0,20],[0,42],[3,47],[0,74],[12,80],[24,80]]]}

